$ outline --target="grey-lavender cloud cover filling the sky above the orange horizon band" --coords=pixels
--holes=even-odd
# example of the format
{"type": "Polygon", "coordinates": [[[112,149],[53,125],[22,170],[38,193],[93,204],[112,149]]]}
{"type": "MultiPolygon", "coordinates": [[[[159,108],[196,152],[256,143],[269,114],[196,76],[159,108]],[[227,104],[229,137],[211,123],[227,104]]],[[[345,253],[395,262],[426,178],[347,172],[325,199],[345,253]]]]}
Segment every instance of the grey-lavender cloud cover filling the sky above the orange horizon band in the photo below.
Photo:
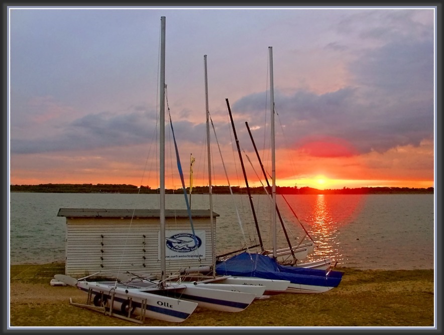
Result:
{"type": "Polygon", "coordinates": [[[427,10],[16,11],[12,154],[32,161],[43,152],[106,150],[122,157],[114,148],[154,144],[164,12],[169,106],[183,154],[205,143],[204,54],[222,149],[234,140],[226,97],[241,147],[253,149],[245,121],[256,144],[268,145],[268,46],[278,149],[313,160],[348,158],[433,139],[434,22],[427,10]]]}

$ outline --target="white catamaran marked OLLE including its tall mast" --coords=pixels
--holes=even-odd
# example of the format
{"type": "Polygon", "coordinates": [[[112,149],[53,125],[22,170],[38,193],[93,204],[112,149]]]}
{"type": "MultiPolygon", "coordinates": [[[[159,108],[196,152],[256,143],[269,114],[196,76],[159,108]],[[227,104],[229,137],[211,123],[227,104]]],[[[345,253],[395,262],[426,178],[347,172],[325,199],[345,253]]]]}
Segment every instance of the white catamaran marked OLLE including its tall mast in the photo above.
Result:
{"type": "MultiPolygon", "coordinates": [[[[165,94],[165,17],[161,17],[161,76],[160,76],[160,231],[161,240],[165,241],[165,104],[162,95],[165,94]]],[[[86,281],[93,275],[80,278],[79,280],[70,276],[57,274],[55,279],[68,285],[75,286],[88,293],[86,304],[76,304],[80,307],[90,307],[90,300],[93,296],[93,304],[96,310],[109,310],[113,316],[123,317],[131,321],[143,322],[145,317],[152,317],[164,321],[181,322],[187,319],[197,307],[196,302],[187,301],[180,298],[159,296],[153,292],[160,290],[166,291],[168,288],[177,289],[178,287],[166,287],[165,277],[165,243],[161,243],[161,281],[159,285],[152,283],[149,287],[141,285],[131,285],[128,281],[122,281],[118,278],[116,281],[86,281]],[[120,315],[115,312],[119,310],[127,315],[120,315]],[[133,314],[139,316],[139,319],[132,317],[133,314]]],[[[147,285],[145,285],[147,286],[147,285]]],[[[72,302],[71,302],[72,303],[72,302]]]]}

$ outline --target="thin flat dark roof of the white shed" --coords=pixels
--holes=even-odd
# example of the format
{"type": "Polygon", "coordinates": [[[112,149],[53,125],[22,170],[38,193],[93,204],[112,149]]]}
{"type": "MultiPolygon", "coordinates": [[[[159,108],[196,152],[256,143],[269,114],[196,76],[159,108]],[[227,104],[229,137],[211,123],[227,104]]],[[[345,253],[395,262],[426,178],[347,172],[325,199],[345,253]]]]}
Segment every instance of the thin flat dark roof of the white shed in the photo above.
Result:
{"type": "MultiPolygon", "coordinates": [[[[191,210],[191,216],[209,218],[209,210],[191,210]]],[[[57,216],[71,218],[159,218],[159,209],[60,208],[57,216]]],[[[213,216],[219,214],[213,212],[213,216]]],[[[165,210],[165,218],[188,218],[187,210],[165,210]]]]}

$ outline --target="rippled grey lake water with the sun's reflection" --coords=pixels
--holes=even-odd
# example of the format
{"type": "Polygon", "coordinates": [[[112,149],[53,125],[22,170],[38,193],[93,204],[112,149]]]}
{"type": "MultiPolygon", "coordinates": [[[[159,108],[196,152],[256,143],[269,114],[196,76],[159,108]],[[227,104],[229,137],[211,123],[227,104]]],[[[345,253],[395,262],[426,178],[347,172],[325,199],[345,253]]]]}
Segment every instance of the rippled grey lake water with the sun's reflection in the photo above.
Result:
{"type": "MultiPolygon", "coordinates": [[[[304,229],[317,247],[307,260],[330,257],[338,266],[359,269],[434,267],[433,195],[286,195],[277,203],[292,243],[304,229]],[[291,210],[291,209],[292,210],[291,210]],[[294,213],[293,213],[293,212],[294,213]],[[296,219],[297,217],[297,219],[296,219]],[[303,228],[302,228],[303,226],[303,228]]],[[[259,243],[248,196],[213,195],[216,254],[259,243]],[[239,214],[239,215],[238,215],[239,214]]],[[[208,195],[192,195],[192,209],[209,209],[208,195]]],[[[271,204],[253,195],[264,246],[271,248],[271,204]]],[[[65,259],[60,208],[156,209],[157,195],[11,193],[10,264],[44,264],[65,259]]],[[[186,209],[183,194],[166,195],[167,209],[186,209]]],[[[278,247],[286,247],[277,220],[278,247]]]]}

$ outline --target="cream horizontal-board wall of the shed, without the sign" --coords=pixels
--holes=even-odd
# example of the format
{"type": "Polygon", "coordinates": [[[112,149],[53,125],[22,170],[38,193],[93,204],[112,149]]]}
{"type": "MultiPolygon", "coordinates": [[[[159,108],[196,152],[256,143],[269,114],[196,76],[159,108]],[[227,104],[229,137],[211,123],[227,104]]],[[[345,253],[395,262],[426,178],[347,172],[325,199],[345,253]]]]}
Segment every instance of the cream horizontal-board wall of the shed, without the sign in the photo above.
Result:
{"type": "MultiPolygon", "coordinates": [[[[98,271],[160,274],[159,219],[66,218],[65,274],[81,278],[98,271]]],[[[166,219],[167,230],[191,229],[188,218],[166,219]]],[[[193,218],[205,230],[205,259],[166,260],[167,274],[186,266],[211,265],[209,218],[193,218]]],[[[104,273],[100,274],[103,275],[104,273]]]]}

